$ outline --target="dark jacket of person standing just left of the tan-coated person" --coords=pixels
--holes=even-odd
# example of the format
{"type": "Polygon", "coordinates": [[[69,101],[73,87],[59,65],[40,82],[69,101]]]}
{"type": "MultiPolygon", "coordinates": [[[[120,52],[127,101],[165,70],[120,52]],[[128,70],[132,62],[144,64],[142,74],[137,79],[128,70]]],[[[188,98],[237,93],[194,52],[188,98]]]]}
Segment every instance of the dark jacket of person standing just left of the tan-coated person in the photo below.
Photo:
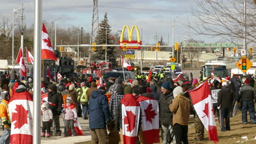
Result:
{"type": "Polygon", "coordinates": [[[172,112],[170,111],[169,105],[173,100],[172,92],[167,94],[161,94],[159,98],[159,121],[161,124],[172,125],[172,112]]]}

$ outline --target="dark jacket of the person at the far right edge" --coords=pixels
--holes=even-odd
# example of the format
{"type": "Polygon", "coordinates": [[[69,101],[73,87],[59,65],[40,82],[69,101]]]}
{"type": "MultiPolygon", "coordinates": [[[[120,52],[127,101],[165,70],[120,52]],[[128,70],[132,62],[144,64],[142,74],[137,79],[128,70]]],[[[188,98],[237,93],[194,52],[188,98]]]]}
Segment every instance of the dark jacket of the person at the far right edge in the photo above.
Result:
{"type": "Polygon", "coordinates": [[[246,84],[240,88],[240,91],[238,92],[239,99],[241,101],[253,101],[256,102],[256,91],[255,89],[250,85],[246,84]]]}

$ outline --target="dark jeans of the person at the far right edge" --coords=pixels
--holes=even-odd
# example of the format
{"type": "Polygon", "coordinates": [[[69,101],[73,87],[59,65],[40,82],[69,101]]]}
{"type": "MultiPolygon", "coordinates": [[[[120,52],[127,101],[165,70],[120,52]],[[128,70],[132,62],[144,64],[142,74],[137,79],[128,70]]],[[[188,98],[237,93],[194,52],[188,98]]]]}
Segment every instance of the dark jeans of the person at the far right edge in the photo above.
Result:
{"type": "Polygon", "coordinates": [[[249,110],[250,119],[255,121],[255,109],[253,101],[242,101],[242,122],[247,122],[247,111],[249,110]]]}

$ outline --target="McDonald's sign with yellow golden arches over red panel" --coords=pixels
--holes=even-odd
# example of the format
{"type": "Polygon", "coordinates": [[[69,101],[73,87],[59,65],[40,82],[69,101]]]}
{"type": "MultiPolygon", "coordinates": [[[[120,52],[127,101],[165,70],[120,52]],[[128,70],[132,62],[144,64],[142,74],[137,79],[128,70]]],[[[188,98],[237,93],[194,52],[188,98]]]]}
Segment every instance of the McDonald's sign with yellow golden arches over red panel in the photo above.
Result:
{"type": "MultiPolygon", "coordinates": [[[[132,28],[130,29],[129,26],[124,26],[124,28],[121,32],[119,45],[125,45],[126,49],[138,49],[138,50],[141,49],[141,47],[140,47],[141,36],[139,35],[138,27],[132,26],[132,28]],[[123,40],[124,32],[125,32],[126,28],[127,28],[127,33],[128,33],[128,40],[123,40]],[[137,32],[137,40],[132,40],[132,33],[133,33],[134,28],[136,29],[136,32],[137,32]]],[[[124,48],[124,46],[119,46],[119,49],[123,49],[123,48],[124,48]]]]}

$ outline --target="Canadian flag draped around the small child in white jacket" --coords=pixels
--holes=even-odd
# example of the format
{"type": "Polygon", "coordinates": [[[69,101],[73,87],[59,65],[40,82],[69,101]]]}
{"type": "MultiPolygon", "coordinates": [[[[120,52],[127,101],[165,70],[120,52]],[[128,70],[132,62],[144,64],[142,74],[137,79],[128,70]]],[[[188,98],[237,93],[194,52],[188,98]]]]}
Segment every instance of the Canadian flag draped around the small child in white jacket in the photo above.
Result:
{"type": "MultiPolygon", "coordinates": [[[[75,108],[74,104],[70,104],[70,105],[65,104],[64,110],[66,110],[66,109],[71,109],[72,112],[74,113],[74,117],[77,117],[77,109],[75,108]]],[[[62,113],[62,115],[63,115],[63,117],[65,117],[65,113],[62,113]]],[[[80,123],[78,122],[78,119],[77,119],[77,121],[74,120],[74,130],[75,130],[75,135],[84,135],[82,127],[81,127],[80,123]]],[[[70,128],[68,130],[68,135],[69,136],[71,135],[70,128]]]]}

